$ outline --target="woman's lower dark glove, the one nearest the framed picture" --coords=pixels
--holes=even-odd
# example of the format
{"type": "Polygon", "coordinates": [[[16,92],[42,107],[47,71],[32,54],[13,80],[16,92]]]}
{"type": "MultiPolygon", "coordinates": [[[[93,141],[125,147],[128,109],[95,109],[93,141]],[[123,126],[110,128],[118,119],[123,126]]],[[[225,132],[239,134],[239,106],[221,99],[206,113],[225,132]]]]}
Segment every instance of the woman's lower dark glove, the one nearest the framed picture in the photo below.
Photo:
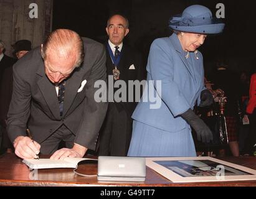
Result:
{"type": "Polygon", "coordinates": [[[191,109],[181,114],[181,117],[196,131],[198,141],[201,141],[201,139],[204,143],[212,141],[212,131],[191,109]]]}

